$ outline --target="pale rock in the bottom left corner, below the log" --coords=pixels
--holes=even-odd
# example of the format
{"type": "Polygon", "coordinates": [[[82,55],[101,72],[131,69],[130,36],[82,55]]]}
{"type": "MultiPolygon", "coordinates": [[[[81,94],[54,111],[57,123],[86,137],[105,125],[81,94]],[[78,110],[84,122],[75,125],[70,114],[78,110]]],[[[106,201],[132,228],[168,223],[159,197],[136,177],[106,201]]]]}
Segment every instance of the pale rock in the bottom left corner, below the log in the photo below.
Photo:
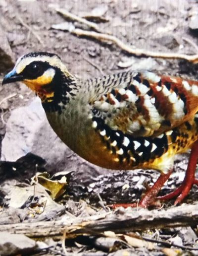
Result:
{"type": "Polygon", "coordinates": [[[35,249],[37,244],[25,235],[0,232],[0,255],[28,253],[35,249]]]}

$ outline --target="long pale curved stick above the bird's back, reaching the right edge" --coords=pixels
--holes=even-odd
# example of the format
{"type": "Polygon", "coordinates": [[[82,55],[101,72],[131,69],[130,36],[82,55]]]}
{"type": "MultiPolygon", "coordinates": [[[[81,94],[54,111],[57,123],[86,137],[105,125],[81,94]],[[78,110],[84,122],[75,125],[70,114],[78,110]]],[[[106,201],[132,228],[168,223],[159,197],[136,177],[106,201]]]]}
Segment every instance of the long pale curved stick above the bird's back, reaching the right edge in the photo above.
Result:
{"type": "Polygon", "coordinates": [[[79,28],[75,28],[71,31],[72,34],[77,36],[87,36],[97,39],[99,41],[107,41],[117,45],[123,51],[136,55],[138,57],[152,57],[152,58],[161,58],[161,59],[184,59],[192,63],[198,63],[198,54],[196,55],[186,55],[186,54],[177,54],[177,53],[156,53],[152,51],[147,51],[144,49],[133,49],[129,45],[123,43],[120,39],[115,36],[97,33],[94,31],[82,30],[79,28]]]}

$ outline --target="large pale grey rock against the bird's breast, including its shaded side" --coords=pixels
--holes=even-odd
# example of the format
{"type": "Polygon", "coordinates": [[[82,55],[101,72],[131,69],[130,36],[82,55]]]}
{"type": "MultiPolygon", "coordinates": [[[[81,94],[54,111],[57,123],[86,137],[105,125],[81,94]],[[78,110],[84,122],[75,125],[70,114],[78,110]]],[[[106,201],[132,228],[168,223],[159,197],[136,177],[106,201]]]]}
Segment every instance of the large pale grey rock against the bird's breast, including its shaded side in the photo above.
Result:
{"type": "Polygon", "coordinates": [[[77,156],[57,137],[39,98],[11,112],[2,140],[1,160],[16,161],[29,152],[46,160],[48,172],[78,171],[87,178],[89,173],[98,176],[104,172],[77,156]]]}

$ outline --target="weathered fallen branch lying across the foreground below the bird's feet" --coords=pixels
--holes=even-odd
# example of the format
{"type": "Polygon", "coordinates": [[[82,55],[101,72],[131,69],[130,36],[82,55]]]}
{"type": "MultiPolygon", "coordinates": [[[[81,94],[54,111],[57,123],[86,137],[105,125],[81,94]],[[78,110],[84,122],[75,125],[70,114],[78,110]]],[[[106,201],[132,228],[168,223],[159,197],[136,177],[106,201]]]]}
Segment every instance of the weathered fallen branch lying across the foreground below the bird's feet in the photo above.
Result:
{"type": "Polygon", "coordinates": [[[198,225],[198,204],[181,205],[167,210],[118,209],[115,212],[93,215],[89,218],[71,218],[65,221],[40,221],[0,225],[0,232],[24,234],[29,237],[94,235],[104,231],[126,233],[155,228],[198,225]]]}

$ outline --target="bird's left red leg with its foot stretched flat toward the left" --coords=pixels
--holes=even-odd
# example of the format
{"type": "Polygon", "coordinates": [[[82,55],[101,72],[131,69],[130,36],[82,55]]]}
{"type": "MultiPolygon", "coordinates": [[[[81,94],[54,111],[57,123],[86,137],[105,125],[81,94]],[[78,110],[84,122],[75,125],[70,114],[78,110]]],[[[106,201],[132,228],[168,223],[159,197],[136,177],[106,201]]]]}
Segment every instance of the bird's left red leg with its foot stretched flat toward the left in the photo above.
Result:
{"type": "Polygon", "coordinates": [[[168,180],[172,173],[172,170],[169,171],[167,174],[160,174],[159,178],[157,181],[154,183],[154,185],[146,192],[145,196],[140,200],[139,203],[117,203],[111,205],[111,208],[115,209],[117,207],[142,207],[142,208],[147,208],[150,205],[153,205],[156,199],[156,196],[158,192],[161,190],[163,187],[164,183],[168,180]]]}

